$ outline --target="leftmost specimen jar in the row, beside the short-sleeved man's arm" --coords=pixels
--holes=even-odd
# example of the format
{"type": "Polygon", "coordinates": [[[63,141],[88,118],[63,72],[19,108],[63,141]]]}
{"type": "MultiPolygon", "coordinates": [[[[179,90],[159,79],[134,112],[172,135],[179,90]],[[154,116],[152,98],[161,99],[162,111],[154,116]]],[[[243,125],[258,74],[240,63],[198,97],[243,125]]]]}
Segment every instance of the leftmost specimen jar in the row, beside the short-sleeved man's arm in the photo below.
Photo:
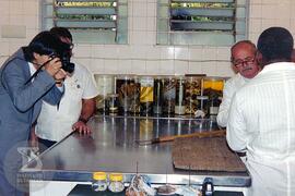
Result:
{"type": "Polygon", "coordinates": [[[96,97],[96,108],[99,112],[108,112],[107,95],[114,93],[115,77],[114,75],[95,74],[94,79],[98,95],[96,97]]]}

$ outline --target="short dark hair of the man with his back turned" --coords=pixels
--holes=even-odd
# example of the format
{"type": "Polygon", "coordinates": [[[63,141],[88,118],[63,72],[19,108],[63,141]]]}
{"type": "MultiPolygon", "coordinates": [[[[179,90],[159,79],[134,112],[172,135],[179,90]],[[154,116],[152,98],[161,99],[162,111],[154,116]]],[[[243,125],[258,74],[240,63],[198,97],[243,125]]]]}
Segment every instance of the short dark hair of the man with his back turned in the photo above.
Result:
{"type": "Polygon", "coordinates": [[[266,62],[291,61],[293,45],[293,37],[286,28],[270,27],[259,36],[257,48],[266,62]]]}

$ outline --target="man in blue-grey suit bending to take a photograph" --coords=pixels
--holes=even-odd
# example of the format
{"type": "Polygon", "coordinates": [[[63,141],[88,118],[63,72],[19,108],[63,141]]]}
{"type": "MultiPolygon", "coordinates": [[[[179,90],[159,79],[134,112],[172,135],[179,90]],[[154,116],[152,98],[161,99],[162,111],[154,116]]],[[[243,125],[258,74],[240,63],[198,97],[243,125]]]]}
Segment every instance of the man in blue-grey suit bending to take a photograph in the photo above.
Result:
{"type": "Polygon", "coordinates": [[[63,86],[58,88],[56,81],[62,81],[66,73],[55,57],[68,50],[69,45],[42,32],[0,69],[0,195],[23,195],[16,189],[16,173],[22,166],[17,150],[27,146],[43,101],[60,101],[63,86]]]}

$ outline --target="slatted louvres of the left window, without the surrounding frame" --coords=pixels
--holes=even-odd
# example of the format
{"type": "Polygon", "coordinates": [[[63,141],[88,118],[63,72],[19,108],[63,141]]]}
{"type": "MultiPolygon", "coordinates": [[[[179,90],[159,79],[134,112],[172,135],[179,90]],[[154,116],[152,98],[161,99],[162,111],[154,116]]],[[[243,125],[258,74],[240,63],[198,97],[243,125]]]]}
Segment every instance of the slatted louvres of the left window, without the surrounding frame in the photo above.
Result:
{"type": "Polygon", "coordinates": [[[55,0],[54,24],[74,29],[117,29],[117,0],[55,0]]]}

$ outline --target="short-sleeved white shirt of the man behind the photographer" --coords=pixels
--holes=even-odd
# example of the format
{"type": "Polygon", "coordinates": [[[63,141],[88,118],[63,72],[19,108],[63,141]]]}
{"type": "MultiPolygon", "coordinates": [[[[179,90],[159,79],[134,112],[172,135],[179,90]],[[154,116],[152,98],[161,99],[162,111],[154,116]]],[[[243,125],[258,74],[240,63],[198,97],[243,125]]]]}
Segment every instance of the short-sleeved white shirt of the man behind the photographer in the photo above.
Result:
{"type": "Polygon", "coordinates": [[[92,74],[79,64],[75,64],[73,75],[66,78],[63,86],[64,95],[59,108],[43,102],[35,126],[36,135],[43,139],[59,142],[69,135],[81,114],[82,99],[91,99],[98,94],[92,74]]]}

